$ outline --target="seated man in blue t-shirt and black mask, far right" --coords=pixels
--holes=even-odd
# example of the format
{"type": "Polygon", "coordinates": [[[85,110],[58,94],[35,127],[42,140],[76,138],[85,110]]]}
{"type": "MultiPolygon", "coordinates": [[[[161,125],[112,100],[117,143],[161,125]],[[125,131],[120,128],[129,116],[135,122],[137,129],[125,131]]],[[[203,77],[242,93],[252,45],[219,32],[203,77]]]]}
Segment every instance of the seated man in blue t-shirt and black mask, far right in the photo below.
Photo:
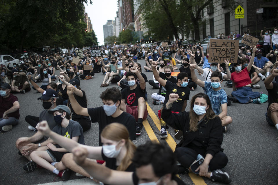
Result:
{"type": "Polygon", "coordinates": [[[253,53],[254,52],[256,52],[257,56],[254,58],[253,67],[255,68],[255,71],[258,73],[261,79],[265,80],[266,77],[269,76],[269,71],[273,64],[266,57],[261,56],[262,52],[260,49],[257,49],[257,51],[255,51],[254,48],[253,53]],[[266,77],[264,76],[264,74],[266,74],[266,77]]]}

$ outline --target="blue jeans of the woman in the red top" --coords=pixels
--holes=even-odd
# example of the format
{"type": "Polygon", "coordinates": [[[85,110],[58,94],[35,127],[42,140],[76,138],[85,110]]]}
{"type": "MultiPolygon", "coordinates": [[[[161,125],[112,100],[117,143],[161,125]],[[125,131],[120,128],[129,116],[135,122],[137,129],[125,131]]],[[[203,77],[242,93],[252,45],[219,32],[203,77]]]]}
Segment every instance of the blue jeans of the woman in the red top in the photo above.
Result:
{"type": "Polygon", "coordinates": [[[239,101],[239,103],[249,103],[250,99],[259,98],[261,94],[259,92],[253,92],[251,87],[239,87],[237,90],[231,93],[233,97],[239,101]]]}

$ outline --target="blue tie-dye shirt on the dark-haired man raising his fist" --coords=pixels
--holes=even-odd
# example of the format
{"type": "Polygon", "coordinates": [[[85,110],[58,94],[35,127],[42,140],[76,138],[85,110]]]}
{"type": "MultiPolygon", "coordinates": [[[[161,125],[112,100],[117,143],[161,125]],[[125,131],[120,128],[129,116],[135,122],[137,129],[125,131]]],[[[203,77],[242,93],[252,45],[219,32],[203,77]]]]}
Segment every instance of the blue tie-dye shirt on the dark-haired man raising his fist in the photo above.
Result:
{"type": "Polygon", "coordinates": [[[209,96],[211,101],[211,108],[215,114],[219,115],[221,104],[227,103],[227,94],[224,89],[213,90],[211,87],[211,82],[205,82],[204,93],[209,96]]]}

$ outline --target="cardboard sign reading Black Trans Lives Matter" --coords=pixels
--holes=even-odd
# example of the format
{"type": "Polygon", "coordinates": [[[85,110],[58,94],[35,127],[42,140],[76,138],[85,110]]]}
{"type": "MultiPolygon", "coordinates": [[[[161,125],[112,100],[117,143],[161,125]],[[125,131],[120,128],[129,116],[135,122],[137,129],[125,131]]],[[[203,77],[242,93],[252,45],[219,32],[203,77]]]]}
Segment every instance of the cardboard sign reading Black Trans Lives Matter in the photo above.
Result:
{"type": "Polygon", "coordinates": [[[237,63],[239,40],[211,39],[209,42],[209,63],[223,63],[229,60],[231,63],[237,63]]]}

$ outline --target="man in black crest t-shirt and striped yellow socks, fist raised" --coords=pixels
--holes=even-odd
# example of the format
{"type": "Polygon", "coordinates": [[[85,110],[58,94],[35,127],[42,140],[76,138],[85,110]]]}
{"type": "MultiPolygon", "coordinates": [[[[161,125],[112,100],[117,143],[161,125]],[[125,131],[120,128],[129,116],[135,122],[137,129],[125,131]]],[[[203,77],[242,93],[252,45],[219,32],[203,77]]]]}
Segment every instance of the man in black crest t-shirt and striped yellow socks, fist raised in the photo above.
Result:
{"type": "MultiPolygon", "coordinates": [[[[151,64],[153,68],[153,76],[155,79],[160,83],[160,86],[164,87],[166,90],[165,94],[165,99],[164,99],[164,105],[167,103],[169,99],[169,94],[172,92],[177,93],[180,98],[173,104],[173,112],[180,113],[185,110],[186,105],[187,105],[187,100],[189,100],[189,95],[190,95],[190,89],[187,87],[188,85],[188,74],[185,72],[180,72],[177,76],[177,82],[172,83],[169,80],[162,79],[157,70],[157,62],[152,62],[151,64]]],[[[158,110],[158,117],[160,119],[160,138],[166,138],[168,136],[167,130],[166,130],[166,123],[162,118],[161,118],[161,110],[158,110]]],[[[179,139],[182,136],[182,131],[177,131],[175,134],[175,138],[179,139]]]]}

